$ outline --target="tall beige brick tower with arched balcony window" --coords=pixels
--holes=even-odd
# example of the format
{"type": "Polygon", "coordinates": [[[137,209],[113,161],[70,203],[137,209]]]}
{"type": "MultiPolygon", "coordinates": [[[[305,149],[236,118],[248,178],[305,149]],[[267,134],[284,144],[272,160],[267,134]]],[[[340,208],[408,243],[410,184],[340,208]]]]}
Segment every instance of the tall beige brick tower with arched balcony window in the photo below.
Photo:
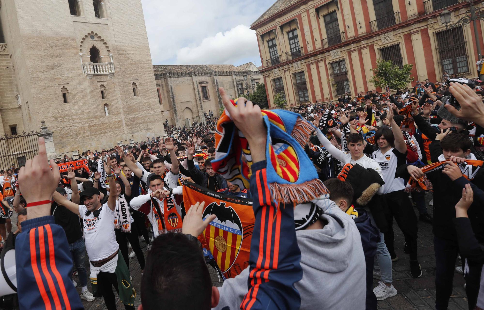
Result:
{"type": "Polygon", "coordinates": [[[164,133],[141,0],[1,0],[0,77],[0,134],[58,154],[164,133]]]}

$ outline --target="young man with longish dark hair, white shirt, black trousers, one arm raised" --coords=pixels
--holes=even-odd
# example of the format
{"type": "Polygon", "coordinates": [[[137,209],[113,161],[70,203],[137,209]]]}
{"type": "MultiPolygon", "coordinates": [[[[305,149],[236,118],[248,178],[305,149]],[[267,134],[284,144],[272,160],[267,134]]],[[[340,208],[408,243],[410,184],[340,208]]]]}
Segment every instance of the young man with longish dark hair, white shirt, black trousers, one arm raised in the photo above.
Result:
{"type": "Polygon", "coordinates": [[[387,208],[388,231],[385,244],[392,256],[392,261],[398,260],[393,248],[393,217],[405,237],[404,252],[410,254],[410,275],[414,278],[422,276],[422,269],[417,260],[417,216],[405,192],[402,178],[395,176],[398,167],[407,163],[407,143],[403,133],[393,120],[392,109],[387,111],[387,119],[392,129],[380,127],[375,133],[378,150],[372,154],[381,167],[385,184],[380,188],[384,206],[387,208]]]}

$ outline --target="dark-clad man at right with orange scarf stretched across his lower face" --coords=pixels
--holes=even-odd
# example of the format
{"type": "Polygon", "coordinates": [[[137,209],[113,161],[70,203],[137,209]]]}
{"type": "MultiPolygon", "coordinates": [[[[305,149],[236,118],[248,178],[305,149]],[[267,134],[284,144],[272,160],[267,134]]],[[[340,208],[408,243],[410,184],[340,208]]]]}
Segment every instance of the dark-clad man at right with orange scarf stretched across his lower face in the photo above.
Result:
{"type": "MultiPolygon", "coordinates": [[[[475,159],[475,156],[470,153],[469,138],[458,133],[449,133],[445,136],[444,133],[441,133],[439,135],[429,145],[430,155],[432,158],[441,158],[442,160],[450,160],[452,162],[445,165],[443,169],[434,169],[425,174],[415,166],[404,165],[397,170],[397,175],[400,177],[412,177],[414,179],[425,175],[433,185],[434,224],[432,232],[434,233],[436,262],[435,307],[437,310],[442,310],[447,309],[449,306],[449,298],[452,294],[452,282],[454,279],[455,260],[459,253],[456,231],[453,224],[453,219],[455,218],[454,207],[462,197],[462,189],[466,183],[472,183],[472,186],[477,186],[478,188],[483,188],[484,183],[482,168],[475,170],[466,164],[466,159],[475,159]],[[439,141],[440,139],[441,141],[439,141]],[[445,146],[445,150],[442,149],[442,144],[445,146]],[[471,178],[470,182],[463,177],[463,171],[467,171],[467,177],[471,178]]],[[[484,216],[481,203],[480,200],[474,199],[474,202],[469,208],[469,219],[477,239],[483,242],[484,216]]],[[[461,258],[462,261],[466,259],[462,253],[461,258]]],[[[466,279],[466,293],[469,307],[471,301],[475,300],[478,291],[479,282],[466,279]]]]}

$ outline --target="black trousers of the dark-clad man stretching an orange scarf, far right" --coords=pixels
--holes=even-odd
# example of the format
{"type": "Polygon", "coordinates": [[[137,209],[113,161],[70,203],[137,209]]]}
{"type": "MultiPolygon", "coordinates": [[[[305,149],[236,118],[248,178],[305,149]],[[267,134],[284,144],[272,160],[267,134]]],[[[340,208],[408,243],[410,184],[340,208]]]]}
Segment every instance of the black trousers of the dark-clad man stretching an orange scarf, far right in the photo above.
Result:
{"type": "MultiPolygon", "coordinates": [[[[434,252],[437,270],[435,272],[435,308],[446,310],[449,306],[449,298],[452,295],[452,282],[454,280],[455,260],[459,254],[457,241],[447,240],[434,236],[434,252]]],[[[462,257],[464,267],[465,257],[462,257]]],[[[469,263],[469,273],[466,279],[466,295],[469,310],[473,310],[479,294],[482,264],[469,263]]]]}

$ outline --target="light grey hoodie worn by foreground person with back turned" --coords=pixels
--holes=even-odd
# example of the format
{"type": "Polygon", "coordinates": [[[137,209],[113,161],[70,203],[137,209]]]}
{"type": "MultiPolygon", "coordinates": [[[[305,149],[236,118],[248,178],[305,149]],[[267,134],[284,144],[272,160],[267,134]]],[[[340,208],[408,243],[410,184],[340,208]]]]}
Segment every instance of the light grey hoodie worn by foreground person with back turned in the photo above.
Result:
{"type": "MultiPolygon", "coordinates": [[[[295,284],[302,310],[365,309],[366,268],[360,232],[353,219],[331,201],[321,216],[323,229],[297,230],[302,280],[295,284]]],[[[239,309],[247,293],[249,268],[218,288],[213,309],[239,309]]]]}

